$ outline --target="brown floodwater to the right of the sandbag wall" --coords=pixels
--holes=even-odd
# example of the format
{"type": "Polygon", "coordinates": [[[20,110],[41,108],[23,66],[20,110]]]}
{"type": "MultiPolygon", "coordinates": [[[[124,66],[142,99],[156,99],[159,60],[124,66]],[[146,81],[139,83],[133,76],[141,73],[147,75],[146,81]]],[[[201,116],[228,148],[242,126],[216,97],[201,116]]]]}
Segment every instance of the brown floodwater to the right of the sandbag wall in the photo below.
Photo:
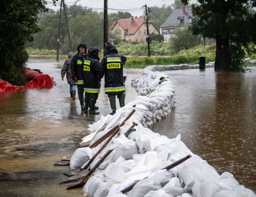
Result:
{"type": "Polygon", "coordinates": [[[152,128],[182,141],[221,174],[229,171],[256,191],[256,71],[213,68],[167,72],[176,88],[173,113],[152,128]]]}

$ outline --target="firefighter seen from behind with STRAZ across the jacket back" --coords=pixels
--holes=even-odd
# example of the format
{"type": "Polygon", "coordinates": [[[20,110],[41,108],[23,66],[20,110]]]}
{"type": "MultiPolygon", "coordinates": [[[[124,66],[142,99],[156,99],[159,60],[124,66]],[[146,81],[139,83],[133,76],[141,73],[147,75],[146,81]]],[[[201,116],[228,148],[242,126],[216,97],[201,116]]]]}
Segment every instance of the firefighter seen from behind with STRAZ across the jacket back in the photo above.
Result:
{"type": "Polygon", "coordinates": [[[108,42],[106,45],[106,56],[101,60],[101,78],[105,75],[105,93],[108,94],[112,112],[116,113],[116,96],[120,107],[125,105],[125,86],[123,66],[127,58],[118,54],[116,46],[108,42]]]}

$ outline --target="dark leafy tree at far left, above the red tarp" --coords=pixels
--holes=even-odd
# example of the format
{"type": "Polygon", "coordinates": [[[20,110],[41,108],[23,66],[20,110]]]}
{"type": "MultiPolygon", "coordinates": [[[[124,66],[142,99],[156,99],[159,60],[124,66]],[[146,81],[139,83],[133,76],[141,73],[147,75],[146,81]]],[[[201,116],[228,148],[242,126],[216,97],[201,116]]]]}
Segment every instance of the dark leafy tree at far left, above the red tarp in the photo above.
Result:
{"type": "Polygon", "coordinates": [[[0,78],[14,85],[25,83],[21,73],[28,60],[26,41],[39,31],[39,11],[46,11],[45,1],[1,0],[0,2],[0,78]]]}

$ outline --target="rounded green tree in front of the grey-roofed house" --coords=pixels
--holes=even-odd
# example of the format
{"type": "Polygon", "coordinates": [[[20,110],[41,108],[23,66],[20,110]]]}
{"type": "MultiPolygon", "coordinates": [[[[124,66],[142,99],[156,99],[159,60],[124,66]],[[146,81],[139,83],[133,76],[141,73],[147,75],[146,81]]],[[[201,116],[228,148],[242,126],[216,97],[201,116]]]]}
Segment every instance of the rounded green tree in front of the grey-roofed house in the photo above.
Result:
{"type": "Polygon", "coordinates": [[[170,38],[171,48],[178,53],[184,49],[190,49],[200,43],[200,36],[194,36],[188,26],[179,27],[174,31],[174,36],[170,38]]]}

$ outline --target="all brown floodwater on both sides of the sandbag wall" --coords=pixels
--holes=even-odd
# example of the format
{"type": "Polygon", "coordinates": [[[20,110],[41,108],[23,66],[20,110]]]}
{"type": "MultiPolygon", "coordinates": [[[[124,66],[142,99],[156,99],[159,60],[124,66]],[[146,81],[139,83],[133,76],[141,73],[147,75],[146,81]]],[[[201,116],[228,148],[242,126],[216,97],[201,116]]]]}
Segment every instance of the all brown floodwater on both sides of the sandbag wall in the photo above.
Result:
{"type": "MultiPolygon", "coordinates": [[[[81,112],[70,99],[63,62],[29,60],[28,68],[54,77],[51,89],[0,95],[0,196],[83,196],[82,188],[66,190],[70,157],[87,134],[88,124],[110,113],[108,97],[97,101],[101,115],[81,112]]],[[[126,102],[136,97],[131,80],[140,69],[125,69],[126,102]]],[[[175,84],[176,104],[170,116],[151,129],[181,139],[193,153],[221,174],[231,172],[240,184],[256,191],[256,68],[247,73],[215,73],[213,68],[166,71],[175,84]]]]}

